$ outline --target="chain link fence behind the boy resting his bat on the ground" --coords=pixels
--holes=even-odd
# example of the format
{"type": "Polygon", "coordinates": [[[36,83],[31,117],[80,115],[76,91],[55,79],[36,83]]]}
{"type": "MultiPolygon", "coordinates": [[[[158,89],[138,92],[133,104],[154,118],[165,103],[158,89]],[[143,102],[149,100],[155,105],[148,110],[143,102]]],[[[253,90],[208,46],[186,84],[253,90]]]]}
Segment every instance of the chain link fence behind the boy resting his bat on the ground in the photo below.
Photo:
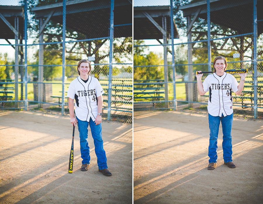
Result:
{"type": "Polygon", "coordinates": [[[0,13],[1,109],[69,113],[68,86],[88,59],[103,117],[131,123],[131,1],[2,0],[0,13]]]}

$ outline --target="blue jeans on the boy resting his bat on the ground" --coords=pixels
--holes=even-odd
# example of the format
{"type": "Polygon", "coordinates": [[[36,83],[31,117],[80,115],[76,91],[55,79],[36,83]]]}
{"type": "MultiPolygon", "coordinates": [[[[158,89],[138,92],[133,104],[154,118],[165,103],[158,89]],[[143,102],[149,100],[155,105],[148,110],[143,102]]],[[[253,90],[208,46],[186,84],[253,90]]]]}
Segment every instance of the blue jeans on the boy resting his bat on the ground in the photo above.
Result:
{"type": "Polygon", "coordinates": [[[80,153],[82,158],[82,164],[90,163],[89,144],[88,144],[88,126],[91,129],[91,135],[94,140],[95,153],[97,156],[97,163],[99,169],[107,169],[106,153],[103,149],[101,124],[96,125],[92,119],[88,121],[78,120],[78,130],[80,138],[80,153]]]}

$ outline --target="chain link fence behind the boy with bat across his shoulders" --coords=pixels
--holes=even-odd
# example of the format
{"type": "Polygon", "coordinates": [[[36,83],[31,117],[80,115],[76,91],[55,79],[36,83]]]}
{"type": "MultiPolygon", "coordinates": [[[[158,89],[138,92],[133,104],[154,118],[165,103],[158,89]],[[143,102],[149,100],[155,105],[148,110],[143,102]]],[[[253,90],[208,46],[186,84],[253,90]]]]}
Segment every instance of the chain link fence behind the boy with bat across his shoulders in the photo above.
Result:
{"type": "MultiPolygon", "coordinates": [[[[170,1],[157,5],[145,2],[140,5],[145,7],[136,7],[136,4],[140,3],[141,1],[134,1],[134,15],[138,10],[146,11],[146,8],[152,6],[152,11],[148,13],[162,27],[162,22],[158,22],[153,9],[171,6],[170,1]]],[[[232,94],[235,116],[262,118],[263,16],[258,9],[259,6],[263,6],[261,1],[257,1],[255,12],[253,1],[230,3],[221,0],[209,2],[208,5],[207,1],[172,1],[174,33],[177,30],[179,34],[178,39],[174,36],[175,75],[171,66],[170,51],[173,44],[169,31],[171,27],[167,29],[169,38],[166,41],[167,62],[165,62],[166,51],[159,46],[165,44],[165,41],[160,36],[157,39],[151,30],[157,26],[148,25],[150,20],[146,17],[147,14],[142,13],[141,20],[136,20],[136,17],[139,19],[139,15],[135,15],[134,32],[137,23],[140,27],[145,27],[147,31],[144,32],[148,32],[149,35],[139,38],[134,34],[134,110],[194,108],[197,111],[206,111],[208,95],[199,95],[195,72],[213,71],[214,57],[221,55],[226,57],[227,69],[248,69],[242,94],[240,96],[232,94]],[[165,66],[168,67],[167,73],[165,66]],[[165,84],[168,84],[168,88],[165,88],[165,84]],[[165,97],[166,89],[168,98],[165,97]]],[[[158,15],[164,16],[161,12],[158,15]]],[[[161,34],[161,29],[159,33],[161,34]]],[[[204,80],[206,76],[207,74],[204,74],[202,79],[204,80]]],[[[240,81],[238,74],[233,76],[240,81]]]]}

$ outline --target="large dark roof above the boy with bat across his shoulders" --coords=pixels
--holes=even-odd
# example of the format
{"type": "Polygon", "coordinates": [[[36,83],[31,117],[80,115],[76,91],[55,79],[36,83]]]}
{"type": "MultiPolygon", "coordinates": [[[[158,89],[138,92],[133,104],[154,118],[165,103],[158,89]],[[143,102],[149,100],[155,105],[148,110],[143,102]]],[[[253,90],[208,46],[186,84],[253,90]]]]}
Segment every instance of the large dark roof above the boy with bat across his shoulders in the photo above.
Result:
{"type": "MultiPolygon", "coordinates": [[[[263,19],[263,0],[257,0],[257,20],[263,19]]],[[[184,17],[194,16],[200,9],[199,18],[207,20],[207,1],[180,6],[184,17]]],[[[210,0],[210,21],[238,34],[253,32],[253,0],[210,0]],[[218,15],[218,13],[220,15],[218,15]]],[[[258,24],[258,35],[263,32],[262,23],[258,24]]]]}

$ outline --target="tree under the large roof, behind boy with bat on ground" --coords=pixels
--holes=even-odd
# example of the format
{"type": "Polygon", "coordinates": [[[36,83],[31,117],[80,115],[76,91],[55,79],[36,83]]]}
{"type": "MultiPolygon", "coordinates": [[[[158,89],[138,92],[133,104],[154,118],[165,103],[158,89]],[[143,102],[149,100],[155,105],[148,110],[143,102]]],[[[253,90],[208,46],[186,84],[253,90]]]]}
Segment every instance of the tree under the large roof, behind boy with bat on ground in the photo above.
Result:
{"type": "MultiPolygon", "coordinates": [[[[44,6],[50,5],[58,2],[63,2],[63,0],[29,0],[28,7],[29,11],[32,7],[35,6],[44,6]]],[[[20,4],[23,5],[23,0],[20,0],[20,4]]],[[[30,35],[38,34],[39,32],[39,20],[34,18],[34,12],[30,11],[32,18],[28,20],[28,28],[30,31],[30,35]]],[[[45,19],[44,19],[45,20],[45,19]]],[[[46,25],[43,33],[44,33],[44,42],[61,42],[62,41],[62,32],[63,26],[59,23],[56,23],[52,20],[48,22],[46,25]]],[[[80,40],[86,39],[86,36],[82,33],[76,32],[70,28],[66,28],[66,40],[80,40]]],[[[116,43],[114,43],[114,59],[117,63],[122,63],[122,57],[125,56],[126,58],[131,58],[132,56],[132,39],[131,37],[126,38],[118,38],[115,39],[116,43]],[[127,57],[127,55],[130,55],[127,57]]],[[[36,39],[36,42],[38,39],[36,39]]],[[[75,42],[75,43],[66,43],[66,64],[76,64],[81,59],[87,59],[88,57],[95,57],[94,60],[94,70],[92,70],[91,74],[94,74],[96,78],[99,79],[100,74],[107,75],[108,74],[108,66],[107,65],[98,65],[98,64],[107,64],[109,56],[109,40],[94,40],[94,41],[82,41],[82,42],[75,42]]],[[[35,55],[35,58],[38,59],[38,55],[35,55]]],[[[44,45],[44,63],[49,64],[62,64],[61,60],[59,61],[58,58],[62,58],[62,44],[49,44],[44,45]]],[[[55,68],[56,69],[56,68],[55,68]]],[[[69,68],[68,70],[71,70],[69,68]]],[[[66,68],[66,73],[67,68],[66,68]]],[[[44,69],[44,76],[51,79],[55,76],[51,76],[55,74],[54,67],[45,68],[44,69]],[[52,69],[52,70],[51,70],[52,69]],[[46,71],[45,71],[46,70],[46,71]],[[48,72],[48,73],[45,73],[48,72]]],[[[69,74],[68,76],[71,76],[69,74]]]]}

